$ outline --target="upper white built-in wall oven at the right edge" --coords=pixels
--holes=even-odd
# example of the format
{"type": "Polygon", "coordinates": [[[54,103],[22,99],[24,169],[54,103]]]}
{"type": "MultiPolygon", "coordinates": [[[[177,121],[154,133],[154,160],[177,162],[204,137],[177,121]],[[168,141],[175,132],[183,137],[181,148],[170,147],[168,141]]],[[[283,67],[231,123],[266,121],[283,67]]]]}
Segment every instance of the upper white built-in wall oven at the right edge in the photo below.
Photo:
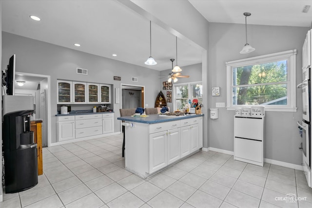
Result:
{"type": "Polygon", "coordinates": [[[302,83],[297,88],[302,89],[302,119],[311,121],[311,68],[302,69],[302,83]]]}

